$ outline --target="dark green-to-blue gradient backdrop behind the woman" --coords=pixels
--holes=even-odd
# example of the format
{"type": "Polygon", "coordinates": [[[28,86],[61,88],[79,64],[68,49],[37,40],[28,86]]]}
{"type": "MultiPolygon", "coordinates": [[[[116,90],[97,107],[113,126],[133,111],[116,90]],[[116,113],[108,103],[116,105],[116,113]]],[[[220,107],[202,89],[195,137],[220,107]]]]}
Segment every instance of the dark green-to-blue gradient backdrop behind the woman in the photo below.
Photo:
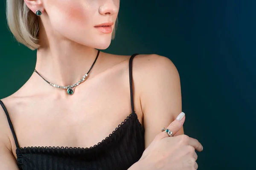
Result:
{"type": "MultiPolygon", "coordinates": [[[[32,75],[36,51],[8,31],[3,1],[0,34],[4,98],[32,75]]],[[[180,73],[185,133],[204,146],[198,170],[256,170],[255,46],[255,0],[121,0],[116,39],[104,51],[172,60],[180,73]]]]}

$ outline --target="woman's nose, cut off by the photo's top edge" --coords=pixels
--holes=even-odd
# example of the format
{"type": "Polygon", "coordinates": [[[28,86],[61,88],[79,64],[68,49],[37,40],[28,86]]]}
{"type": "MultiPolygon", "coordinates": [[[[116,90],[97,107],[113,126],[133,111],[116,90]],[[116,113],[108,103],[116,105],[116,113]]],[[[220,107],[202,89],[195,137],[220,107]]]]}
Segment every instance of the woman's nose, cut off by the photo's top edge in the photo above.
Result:
{"type": "Polygon", "coordinates": [[[99,13],[102,15],[116,14],[118,12],[119,6],[114,1],[116,1],[116,0],[105,0],[104,4],[102,4],[102,6],[99,7],[99,13]]]}

